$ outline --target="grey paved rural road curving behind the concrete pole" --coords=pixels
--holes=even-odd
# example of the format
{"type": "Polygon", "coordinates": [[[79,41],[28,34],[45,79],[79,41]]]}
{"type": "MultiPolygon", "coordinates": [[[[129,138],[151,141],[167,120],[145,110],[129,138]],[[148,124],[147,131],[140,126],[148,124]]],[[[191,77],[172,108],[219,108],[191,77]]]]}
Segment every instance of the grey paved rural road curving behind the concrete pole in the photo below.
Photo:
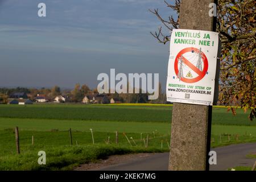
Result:
{"type": "MultiPolygon", "coordinates": [[[[236,166],[253,166],[255,159],[246,159],[247,154],[256,154],[256,143],[233,144],[213,148],[217,152],[217,165],[211,165],[210,171],[227,170],[236,166]]],[[[105,166],[94,170],[100,171],[166,171],[168,170],[169,153],[160,153],[144,158],[130,159],[124,163],[105,166]]]]}

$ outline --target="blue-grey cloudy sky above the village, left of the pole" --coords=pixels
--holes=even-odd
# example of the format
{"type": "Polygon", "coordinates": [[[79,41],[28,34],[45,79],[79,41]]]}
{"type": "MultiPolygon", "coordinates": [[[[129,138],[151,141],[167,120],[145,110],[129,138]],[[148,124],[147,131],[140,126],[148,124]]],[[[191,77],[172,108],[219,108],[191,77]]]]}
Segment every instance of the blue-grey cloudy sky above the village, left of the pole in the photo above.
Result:
{"type": "Polygon", "coordinates": [[[0,86],[96,88],[110,68],[159,73],[165,86],[169,46],[150,35],[154,8],[176,16],[162,0],[0,0],[0,86]]]}

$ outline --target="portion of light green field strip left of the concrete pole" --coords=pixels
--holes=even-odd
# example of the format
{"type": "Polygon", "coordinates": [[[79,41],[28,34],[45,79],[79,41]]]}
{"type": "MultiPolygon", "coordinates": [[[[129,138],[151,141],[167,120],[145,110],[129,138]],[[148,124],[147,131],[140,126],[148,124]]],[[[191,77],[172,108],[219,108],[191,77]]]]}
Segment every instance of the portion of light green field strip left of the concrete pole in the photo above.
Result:
{"type": "MultiPolygon", "coordinates": [[[[89,131],[90,128],[102,132],[120,132],[129,133],[151,133],[158,130],[161,133],[167,133],[170,129],[170,123],[156,122],[117,122],[117,121],[82,121],[82,120],[57,120],[57,119],[19,119],[19,118],[0,118],[2,128],[13,128],[19,126],[21,130],[50,131],[58,129],[60,131],[73,130],[89,131]]],[[[0,129],[1,130],[1,129],[0,129]]]]}

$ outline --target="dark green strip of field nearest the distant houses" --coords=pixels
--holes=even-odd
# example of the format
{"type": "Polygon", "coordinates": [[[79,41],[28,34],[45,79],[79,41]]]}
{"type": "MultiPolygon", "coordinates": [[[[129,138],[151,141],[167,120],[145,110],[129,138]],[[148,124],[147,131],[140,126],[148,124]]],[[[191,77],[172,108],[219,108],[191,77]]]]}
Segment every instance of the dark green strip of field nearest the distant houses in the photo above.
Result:
{"type": "MultiPolygon", "coordinates": [[[[234,116],[226,108],[213,107],[214,125],[256,126],[248,113],[237,109],[234,116]]],[[[0,105],[1,118],[68,119],[85,121],[126,121],[170,123],[172,106],[166,105],[0,105]],[[101,113],[101,114],[98,114],[101,113]]]]}

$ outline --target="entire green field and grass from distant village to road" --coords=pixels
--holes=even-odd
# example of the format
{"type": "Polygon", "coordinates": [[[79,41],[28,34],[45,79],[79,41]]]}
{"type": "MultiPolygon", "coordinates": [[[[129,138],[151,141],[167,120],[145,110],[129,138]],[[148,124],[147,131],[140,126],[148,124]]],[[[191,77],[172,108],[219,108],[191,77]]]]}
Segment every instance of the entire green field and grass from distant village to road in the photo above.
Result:
{"type": "MultiPolygon", "coordinates": [[[[171,111],[168,105],[0,105],[0,170],[72,169],[113,154],[168,151],[171,111]],[[15,126],[19,127],[20,155],[15,151],[15,126]],[[89,129],[94,131],[94,145],[89,129]],[[145,148],[147,135],[150,140],[145,148]],[[47,153],[45,166],[37,163],[40,150],[47,153]]],[[[247,114],[238,109],[233,116],[226,108],[213,107],[212,147],[256,142],[256,123],[247,114]]]]}

